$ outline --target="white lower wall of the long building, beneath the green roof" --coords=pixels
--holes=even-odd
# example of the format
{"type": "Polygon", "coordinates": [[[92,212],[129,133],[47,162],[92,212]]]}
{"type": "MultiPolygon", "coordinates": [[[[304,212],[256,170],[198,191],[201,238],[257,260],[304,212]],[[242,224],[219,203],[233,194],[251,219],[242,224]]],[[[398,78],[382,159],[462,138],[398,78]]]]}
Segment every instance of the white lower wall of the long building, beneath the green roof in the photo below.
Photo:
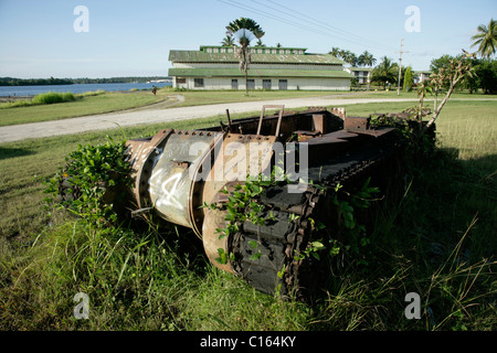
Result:
{"type": "MultiPolygon", "coordinates": [[[[173,79],[173,87],[187,89],[232,89],[232,79],[237,79],[240,90],[245,90],[245,77],[204,77],[203,87],[195,87],[194,77],[184,77],[184,83],[177,83],[173,79]]],[[[263,79],[271,79],[271,89],[279,89],[279,79],[286,79],[287,89],[306,90],[349,90],[349,78],[305,78],[305,77],[278,77],[278,78],[253,78],[255,89],[263,89],[263,79]]]]}

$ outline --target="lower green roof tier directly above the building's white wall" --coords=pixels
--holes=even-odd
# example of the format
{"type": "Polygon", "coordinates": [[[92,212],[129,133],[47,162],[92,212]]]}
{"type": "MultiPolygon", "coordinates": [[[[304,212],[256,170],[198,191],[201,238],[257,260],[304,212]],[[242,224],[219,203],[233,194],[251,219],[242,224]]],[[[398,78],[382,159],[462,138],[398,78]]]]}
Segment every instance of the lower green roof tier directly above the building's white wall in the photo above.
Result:
{"type": "MultiPolygon", "coordinates": [[[[237,68],[169,68],[169,76],[194,77],[245,77],[237,68]]],[[[250,68],[248,77],[326,77],[352,78],[342,69],[257,69],[250,68]]]]}

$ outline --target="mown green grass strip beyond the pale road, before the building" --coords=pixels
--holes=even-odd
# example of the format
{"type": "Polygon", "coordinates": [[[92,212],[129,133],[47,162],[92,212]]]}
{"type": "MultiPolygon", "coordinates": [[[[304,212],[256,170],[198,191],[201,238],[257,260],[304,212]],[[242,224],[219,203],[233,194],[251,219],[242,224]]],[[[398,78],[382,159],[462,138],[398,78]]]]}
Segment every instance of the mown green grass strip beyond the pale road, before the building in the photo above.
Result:
{"type": "MultiPolygon", "coordinates": [[[[49,120],[67,119],[94,114],[114,113],[119,110],[144,107],[154,103],[168,100],[168,96],[181,95],[184,99],[176,103],[170,99],[170,104],[161,107],[186,107],[205,104],[254,101],[267,99],[303,98],[335,96],[337,98],[412,98],[416,99],[415,92],[404,93],[400,96],[396,92],[370,90],[370,92],[329,92],[329,90],[253,90],[246,96],[240,90],[199,90],[199,92],[175,92],[171,88],[162,88],[154,96],[150,92],[125,92],[104,93],[97,95],[75,95],[74,101],[59,103],[56,108],[53,105],[19,106],[0,108],[0,127],[15,124],[40,122],[49,120]]],[[[495,98],[483,94],[455,93],[454,98],[464,99],[486,99],[495,98]]],[[[432,97],[427,97],[431,99],[432,97]]],[[[18,101],[19,105],[19,101],[18,101]]]]}

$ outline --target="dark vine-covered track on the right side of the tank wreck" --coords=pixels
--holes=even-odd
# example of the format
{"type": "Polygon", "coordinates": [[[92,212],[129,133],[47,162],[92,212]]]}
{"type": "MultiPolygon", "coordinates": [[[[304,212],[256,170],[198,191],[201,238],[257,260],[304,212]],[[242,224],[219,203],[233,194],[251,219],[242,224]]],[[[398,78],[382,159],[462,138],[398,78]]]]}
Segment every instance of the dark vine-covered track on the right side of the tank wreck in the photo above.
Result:
{"type": "Polygon", "coordinates": [[[288,193],[288,185],[268,186],[257,200],[264,205],[260,216],[266,220],[265,224],[245,221],[232,238],[234,270],[262,292],[308,298],[324,280],[322,276],[330,276],[317,259],[304,254],[310,242],[324,235],[313,229],[316,221],[326,224],[328,237],[330,229],[336,231],[337,217],[331,204],[335,185],[361,186],[374,170],[388,175],[384,169],[399,161],[400,152],[396,143],[387,142],[371,146],[367,152],[351,151],[310,167],[309,180],[317,185],[308,184],[303,193],[288,193]]]}

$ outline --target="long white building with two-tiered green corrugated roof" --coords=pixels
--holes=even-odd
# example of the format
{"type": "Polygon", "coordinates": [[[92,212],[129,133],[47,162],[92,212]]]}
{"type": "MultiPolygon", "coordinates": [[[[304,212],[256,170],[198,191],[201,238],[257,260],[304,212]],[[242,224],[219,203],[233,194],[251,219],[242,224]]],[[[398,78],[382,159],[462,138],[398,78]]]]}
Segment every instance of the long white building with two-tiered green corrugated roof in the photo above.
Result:
{"type": "MultiPolygon", "coordinates": [[[[350,73],[330,54],[308,54],[302,47],[251,47],[248,89],[350,90],[350,73]]],[[[243,89],[233,46],[200,46],[199,51],[170,51],[172,86],[187,89],[243,89]]]]}

